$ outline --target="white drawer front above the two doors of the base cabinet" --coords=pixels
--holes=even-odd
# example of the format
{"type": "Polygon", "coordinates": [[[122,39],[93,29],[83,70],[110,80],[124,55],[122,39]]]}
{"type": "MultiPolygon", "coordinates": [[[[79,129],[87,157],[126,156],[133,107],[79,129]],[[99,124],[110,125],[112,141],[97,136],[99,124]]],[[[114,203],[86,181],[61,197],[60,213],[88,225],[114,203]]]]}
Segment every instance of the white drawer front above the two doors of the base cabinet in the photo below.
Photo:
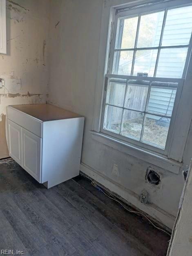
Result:
{"type": "Polygon", "coordinates": [[[38,121],[37,119],[20,112],[13,107],[7,107],[7,118],[42,138],[41,121],[38,121]]]}

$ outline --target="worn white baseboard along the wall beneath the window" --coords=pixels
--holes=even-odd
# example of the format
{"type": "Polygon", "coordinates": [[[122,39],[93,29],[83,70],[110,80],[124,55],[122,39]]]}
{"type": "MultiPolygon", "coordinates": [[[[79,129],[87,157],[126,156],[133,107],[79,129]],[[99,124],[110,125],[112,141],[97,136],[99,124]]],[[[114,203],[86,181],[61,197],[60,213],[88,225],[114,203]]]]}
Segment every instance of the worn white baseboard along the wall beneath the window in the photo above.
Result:
{"type": "Polygon", "coordinates": [[[128,190],[126,187],[123,187],[121,184],[118,184],[104,174],[96,171],[92,167],[82,162],[80,164],[80,171],[106,187],[111,192],[118,194],[122,199],[125,200],[125,202],[128,202],[142,212],[147,213],[147,215],[150,215],[153,219],[157,220],[157,222],[162,223],[163,226],[168,227],[168,229],[173,228],[176,218],[175,216],[167,213],[165,210],[159,208],[153,203],[146,205],[141,203],[139,201],[139,196],[136,193],[128,190]]]}

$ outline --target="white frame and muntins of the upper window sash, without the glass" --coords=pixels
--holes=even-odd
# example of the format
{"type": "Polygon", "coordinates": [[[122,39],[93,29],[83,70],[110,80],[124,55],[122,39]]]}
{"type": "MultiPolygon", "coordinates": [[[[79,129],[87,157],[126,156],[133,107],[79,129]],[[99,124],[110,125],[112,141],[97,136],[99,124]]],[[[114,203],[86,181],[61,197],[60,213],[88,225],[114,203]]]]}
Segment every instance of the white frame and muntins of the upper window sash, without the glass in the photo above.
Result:
{"type": "MultiPolygon", "coordinates": [[[[115,19],[114,19],[114,27],[113,27],[113,33],[112,33],[112,44],[111,44],[111,48],[110,48],[110,53],[111,56],[109,56],[109,62],[108,62],[108,72],[112,74],[113,71],[113,64],[114,64],[114,53],[117,51],[126,51],[126,50],[133,50],[134,51],[134,55],[133,55],[133,60],[132,60],[132,69],[131,69],[131,75],[133,75],[133,71],[134,71],[134,62],[135,62],[135,55],[136,55],[136,50],[158,50],[157,53],[157,58],[156,58],[156,65],[155,65],[155,70],[154,70],[154,77],[156,77],[156,71],[157,71],[157,67],[158,67],[158,62],[159,62],[159,56],[160,56],[160,51],[161,49],[168,49],[168,48],[188,48],[188,53],[186,56],[186,60],[185,60],[185,66],[183,69],[183,75],[182,78],[185,78],[186,76],[186,72],[187,72],[187,66],[189,63],[189,59],[190,59],[190,53],[192,50],[192,35],[190,38],[190,42],[187,45],[177,45],[177,46],[161,46],[162,44],[162,39],[163,39],[163,31],[164,31],[164,27],[165,27],[165,21],[166,21],[166,16],[167,16],[167,11],[169,9],[176,9],[179,7],[186,7],[186,6],[191,6],[192,2],[190,0],[183,0],[182,4],[181,1],[179,0],[173,0],[170,2],[163,2],[161,4],[153,4],[151,7],[147,6],[147,7],[138,7],[129,11],[122,11],[120,13],[118,13],[118,9],[116,10],[116,15],[115,15],[115,19]],[[139,32],[139,26],[140,26],[140,21],[141,21],[141,15],[143,14],[152,14],[152,13],[156,13],[159,11],[165,11],[164,13],[164,17],[163,17],[163,24],[162,24],[162,28],[161,28],[161,37],[160,37],[160,41],[159,41],[159,46],[157,47],[146,47],[146,48],[137,48],[137,40],[138,40],[138,32],[139,32]],[[119,45],[118,43],[118,34],[119,34],[119,27],[120,27],[120,22],[121,19],[123,18],[133,18],[138,16],[138,24],[137,24],[137,31],[136,31],[136,40],[135,40],[135,45],[134,48],[127,48],[127,49],[120,49],[120,48],[116,48],[116,45],[119,45]]],[[[122,31],[123,34],[123,31],[122,31]]]]}

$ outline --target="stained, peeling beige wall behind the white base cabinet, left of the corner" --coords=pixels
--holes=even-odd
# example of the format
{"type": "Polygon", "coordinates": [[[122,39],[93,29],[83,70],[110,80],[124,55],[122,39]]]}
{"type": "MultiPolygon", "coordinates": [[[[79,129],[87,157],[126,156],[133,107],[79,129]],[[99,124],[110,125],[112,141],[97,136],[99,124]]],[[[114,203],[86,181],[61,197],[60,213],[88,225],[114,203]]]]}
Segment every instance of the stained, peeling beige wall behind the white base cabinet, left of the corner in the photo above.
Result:
{"type": "Polygon", "coordinates": [[[49,0],[7,0],[7,54],[0,54],[0,158],[9,156],[7,105],[45,103],[48,84],[49,0]]]}

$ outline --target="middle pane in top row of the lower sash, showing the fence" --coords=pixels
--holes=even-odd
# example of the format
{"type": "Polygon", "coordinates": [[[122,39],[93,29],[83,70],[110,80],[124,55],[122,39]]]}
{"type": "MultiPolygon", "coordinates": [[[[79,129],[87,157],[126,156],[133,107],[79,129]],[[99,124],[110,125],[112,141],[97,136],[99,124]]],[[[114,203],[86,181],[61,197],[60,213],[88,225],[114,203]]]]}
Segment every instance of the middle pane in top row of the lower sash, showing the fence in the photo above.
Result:
{"type": "Polygon", "coordinates": [[[125,107],[144,111],[148,88],[149,81],[129,80],[125,97],[125,107]]]}

